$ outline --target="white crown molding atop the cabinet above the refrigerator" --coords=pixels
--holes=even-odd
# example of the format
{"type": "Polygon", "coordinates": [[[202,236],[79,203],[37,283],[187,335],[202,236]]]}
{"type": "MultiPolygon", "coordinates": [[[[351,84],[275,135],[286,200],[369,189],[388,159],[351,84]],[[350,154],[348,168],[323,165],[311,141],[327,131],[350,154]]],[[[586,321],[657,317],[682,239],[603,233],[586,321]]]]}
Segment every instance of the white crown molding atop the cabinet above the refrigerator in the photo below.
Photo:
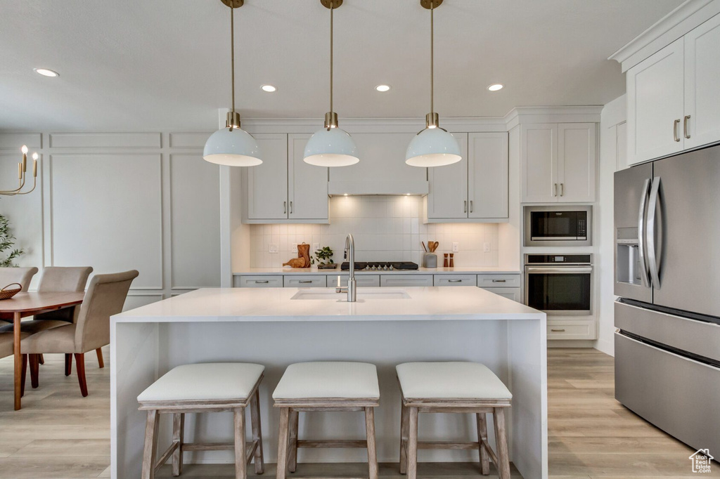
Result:
{"type": "Polygon", "coordinates": [[[608,60],[616,60],[620,63],[625,73],[719,13],[720,0],[687,0],[610,55],[608,60]]]}

